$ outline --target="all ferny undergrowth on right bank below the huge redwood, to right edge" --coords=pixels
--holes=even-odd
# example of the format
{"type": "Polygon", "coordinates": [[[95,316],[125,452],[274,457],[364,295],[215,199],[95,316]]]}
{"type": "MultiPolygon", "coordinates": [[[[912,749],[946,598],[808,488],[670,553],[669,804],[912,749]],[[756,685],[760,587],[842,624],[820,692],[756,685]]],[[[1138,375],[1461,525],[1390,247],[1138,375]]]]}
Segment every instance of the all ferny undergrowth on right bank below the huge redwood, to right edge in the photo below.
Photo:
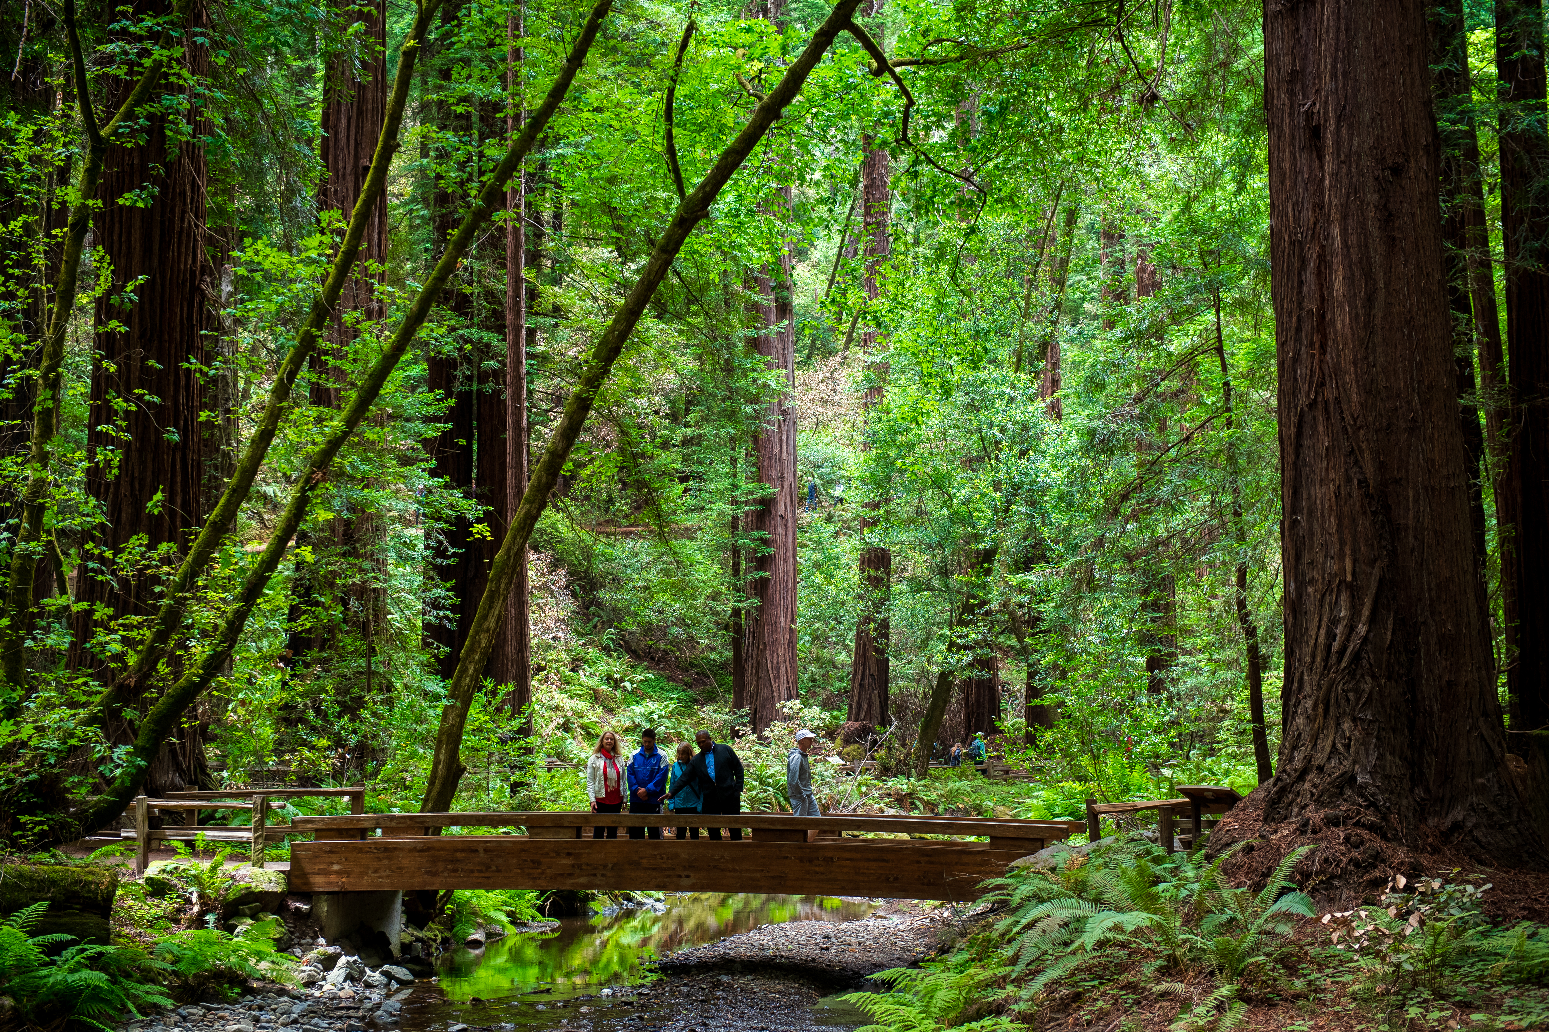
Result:
{"type": "MultiPolygon", "coordinates": [[[[1391,887],[1320,924],[1289,876],[1233,888],[1221,860],[1129,839],[990,882],[990,918],[942,959],[846,996],[861,1032],[1072,1027],[1227,1032],[1255,1009],[1284,1029],[1532,1029],[1549,1023],[1549,928],[1493,928],[1479,887],[1391,887]],[[1338,933],[1337,936],[1334,933],[1338,933]],[[1335,1026],[1315,1010],[1341,1012],[1335,1026]],[[1125,1017],[1129,1015],[1129,1017],[1125,1017]],[[1448,1024],[1451,1021],[1453,1024],[1448,1024]]],[[[1267,1027],[1255,1023],[1255,1027],[1267,1027]]]]}

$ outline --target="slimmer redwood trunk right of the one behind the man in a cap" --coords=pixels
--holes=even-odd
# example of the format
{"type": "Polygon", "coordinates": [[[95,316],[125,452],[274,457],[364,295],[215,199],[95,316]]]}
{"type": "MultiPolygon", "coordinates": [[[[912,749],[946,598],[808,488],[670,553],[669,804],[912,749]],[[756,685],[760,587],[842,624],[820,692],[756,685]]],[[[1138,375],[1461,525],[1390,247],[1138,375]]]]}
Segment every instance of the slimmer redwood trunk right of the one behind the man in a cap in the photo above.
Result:
{"type": "MultiPolygon", "coordinates": [[[[884,147],[869,147],[861,162],[861,235],[864,237],[864,265],[861,286],[866,300],[881,296],[878,272],[892,252],[891,237],[892,184],[891,162],[884,147]]],[[[861,396],[861,405],[871,408],[881,401],[888,378],[888,364],[878,362],[875,350],[878,334],[875,326],[861,334],[861,350],[867,354],[866,368],[871,382],[861,396]]],[[[863,446],[864,447],[864,446],[863,446]]],[[[861,515],[863,540],[880,523],[880,500],[866,501],[861,515]]],[[[888,642],[891,637],[888,610],[892,593],[892,551],[867,545],[860,557],[861,616],[855,627],[855,651],[850,656],[850,704],[847,719],[875,727],[888,726],[888,642]]]]}

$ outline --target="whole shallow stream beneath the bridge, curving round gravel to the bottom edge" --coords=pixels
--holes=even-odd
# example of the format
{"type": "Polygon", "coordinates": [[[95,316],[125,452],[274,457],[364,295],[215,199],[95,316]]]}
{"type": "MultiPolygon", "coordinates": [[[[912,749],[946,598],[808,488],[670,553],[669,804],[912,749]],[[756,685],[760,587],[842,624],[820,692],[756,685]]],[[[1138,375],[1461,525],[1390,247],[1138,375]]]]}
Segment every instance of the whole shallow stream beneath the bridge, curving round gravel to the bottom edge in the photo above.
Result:
{"type": "Polygon", "coordinates": [[[550,931],[443,955],[437,979],[421,979],[404,995],[401,1029],[774,1032],[867,1021],[829,995],[833,986],[799,973],[748,965],[658,979],[652,961],[770,925],[863,921],[875,908],[871,900],[697,893],[669,894],[663,902],[660,910],[632,907],[564,918],[550,931]]]}

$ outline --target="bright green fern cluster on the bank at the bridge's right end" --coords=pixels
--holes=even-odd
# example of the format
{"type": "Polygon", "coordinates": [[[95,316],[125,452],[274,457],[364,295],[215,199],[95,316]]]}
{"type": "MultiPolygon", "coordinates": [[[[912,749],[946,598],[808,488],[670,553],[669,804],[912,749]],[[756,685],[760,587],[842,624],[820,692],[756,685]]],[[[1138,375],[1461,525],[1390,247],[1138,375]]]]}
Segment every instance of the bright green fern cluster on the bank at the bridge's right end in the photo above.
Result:
{"type": "Polygon", "coordinates": [[[1235,1027],[1245,981],[1270,981],[1295,914],[1312,900],[1287,883],[1292,853],[1261,893],[1231,888],[1221,860],[1123,843],[1056,871],[1025,868],[991,882],[1004,913],[945,962],[886,972],[891,993],[853,993],[872,1030],[928,1032],[965,1018],[982,1029],[1025,1021],[1049,998],[1103,973],[1139,975],[1188,1000],[1176,1027],[1235,1027]]]}

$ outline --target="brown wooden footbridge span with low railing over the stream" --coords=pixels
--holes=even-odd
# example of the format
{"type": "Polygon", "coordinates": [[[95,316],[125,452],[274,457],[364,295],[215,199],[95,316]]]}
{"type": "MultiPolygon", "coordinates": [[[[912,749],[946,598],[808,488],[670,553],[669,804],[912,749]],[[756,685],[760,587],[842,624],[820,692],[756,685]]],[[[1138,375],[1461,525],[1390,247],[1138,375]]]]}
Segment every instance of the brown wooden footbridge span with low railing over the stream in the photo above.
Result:
{"type": "Polygon", "coordinates": [[[1080,831],[1080,822],[943,817],[720,815],[742,842],[595,840],[593,826],[703,828],[705,814],[361,814],[296,817],[293,891],[579,888],[686,893],[886,896],[968,900],[1018,857],[1080,831]],[[432,834],[441,828],[525,834],[432,834]],[[381,836],[367,837],[370,831],[381,836]],[[875,832],[931,839],[860,839],[875,832]],[[977,837],[987,842],[953,837],[977,837]]]}

